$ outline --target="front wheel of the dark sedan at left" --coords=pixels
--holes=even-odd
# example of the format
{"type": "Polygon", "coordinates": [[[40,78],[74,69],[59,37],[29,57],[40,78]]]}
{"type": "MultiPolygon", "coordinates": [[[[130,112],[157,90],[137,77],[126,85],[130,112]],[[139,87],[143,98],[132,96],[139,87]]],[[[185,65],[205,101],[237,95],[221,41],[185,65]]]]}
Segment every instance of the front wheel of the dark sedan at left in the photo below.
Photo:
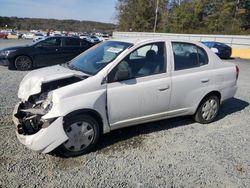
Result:
{"type": "Polygon", "coordinates": [[[16,57],[14,65],[17,70],[30,70],[32,69],[32,59],[26,55],[20,55],[16,57]]]}

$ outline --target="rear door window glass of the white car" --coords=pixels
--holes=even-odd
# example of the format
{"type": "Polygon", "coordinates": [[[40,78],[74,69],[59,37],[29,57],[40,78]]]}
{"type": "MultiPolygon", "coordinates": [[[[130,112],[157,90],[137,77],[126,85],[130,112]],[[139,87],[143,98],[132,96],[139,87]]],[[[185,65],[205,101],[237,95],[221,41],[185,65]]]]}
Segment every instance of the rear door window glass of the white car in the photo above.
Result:
{"type": "Polygon", "coordinates": [[[173,42],[175,70],[190,69],[208,64],[205,50],[190,43],[173,42]]]}

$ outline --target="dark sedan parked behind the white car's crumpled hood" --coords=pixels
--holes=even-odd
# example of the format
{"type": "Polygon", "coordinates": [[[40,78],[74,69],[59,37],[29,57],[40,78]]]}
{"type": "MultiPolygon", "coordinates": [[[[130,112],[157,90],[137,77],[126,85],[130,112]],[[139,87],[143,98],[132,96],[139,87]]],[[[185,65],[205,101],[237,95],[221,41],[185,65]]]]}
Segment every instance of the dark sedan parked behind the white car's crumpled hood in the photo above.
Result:
{"type": "Polygon", "coordinates": [[[30,70],[70,61],[94,43],[73,37],[48,37],[26,46],[0,50],[0,64],[10,70],[30,70]]]}

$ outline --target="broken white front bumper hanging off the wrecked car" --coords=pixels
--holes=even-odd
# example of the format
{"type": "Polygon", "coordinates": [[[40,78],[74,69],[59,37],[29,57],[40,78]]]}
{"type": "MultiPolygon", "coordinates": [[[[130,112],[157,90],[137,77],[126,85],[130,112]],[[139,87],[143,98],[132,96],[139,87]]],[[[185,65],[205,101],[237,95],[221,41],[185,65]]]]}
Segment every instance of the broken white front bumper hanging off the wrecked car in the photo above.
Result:
{"type": "MultiPolygon", "coordinates": [[[[15,117],[15,114],[17,114],[19,111],[19,105],[20,103],[15,106],[12,117],[13,122],[17,127],[21,124],[19,119],[15,117]]],[[[41,128],[35,134],[23,135],[19,134],[18,131],[16,131],[16,135],[18,140],[23,145],[41,153],[49,153],[59,145],[61,145],[63,142],[68,140],[68,137],[63,129],[63,117],[58,117],[48,127],[41,128]]]]}

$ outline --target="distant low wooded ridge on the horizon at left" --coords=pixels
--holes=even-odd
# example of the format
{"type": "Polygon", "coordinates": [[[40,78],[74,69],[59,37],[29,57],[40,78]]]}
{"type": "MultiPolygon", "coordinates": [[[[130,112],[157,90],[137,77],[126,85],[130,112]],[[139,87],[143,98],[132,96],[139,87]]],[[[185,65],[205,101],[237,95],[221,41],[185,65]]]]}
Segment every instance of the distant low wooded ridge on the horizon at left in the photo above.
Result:
{"type": "Polygon", "coordinates": [[[93,21],[0,17],[0,29],[111,32],[115,27],[114,24],[93,21]]]}

